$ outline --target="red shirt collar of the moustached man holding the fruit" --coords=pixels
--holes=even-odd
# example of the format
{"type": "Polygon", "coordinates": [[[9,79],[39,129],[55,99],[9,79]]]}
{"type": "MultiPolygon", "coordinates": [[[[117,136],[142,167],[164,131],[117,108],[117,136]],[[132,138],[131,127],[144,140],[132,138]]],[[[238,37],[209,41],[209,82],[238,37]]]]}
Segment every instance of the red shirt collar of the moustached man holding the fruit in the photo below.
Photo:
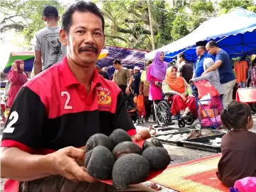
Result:
{"type": "MultiPolygon", "coordinates": [[[[62,74],[62,81],[65,87],[72,84],[80,84],[79,81],[74,77],[74,74],[69,69],[67,64],[67,56],[63,57],[60,67],[60,73],[62,74]]],[[[92,75],[92,84],[101,84],[101,78],[97,72],[96,67],[94,68],[94,74],[92,75]]]]}

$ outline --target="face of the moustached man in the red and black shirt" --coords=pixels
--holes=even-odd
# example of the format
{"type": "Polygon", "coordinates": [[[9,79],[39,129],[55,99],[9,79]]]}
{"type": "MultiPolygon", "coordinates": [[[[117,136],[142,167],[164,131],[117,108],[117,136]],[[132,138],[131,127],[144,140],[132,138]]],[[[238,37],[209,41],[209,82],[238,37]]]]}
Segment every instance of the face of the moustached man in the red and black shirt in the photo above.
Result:
{"type": "Polygon", "coordinates": [[[72,62],[82,67],[96,63],[105,42],[101,18],[94,13],[75,11],[69,34],[60,30],[60,40],[67,45],[72,62]]]}

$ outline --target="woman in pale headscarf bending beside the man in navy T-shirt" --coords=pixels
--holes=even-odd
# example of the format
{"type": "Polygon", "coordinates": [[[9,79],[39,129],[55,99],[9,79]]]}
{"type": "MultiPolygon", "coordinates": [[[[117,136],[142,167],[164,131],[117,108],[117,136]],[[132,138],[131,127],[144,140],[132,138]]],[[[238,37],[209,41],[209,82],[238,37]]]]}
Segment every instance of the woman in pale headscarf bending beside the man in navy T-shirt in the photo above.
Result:
{"type": "MultiPolygon", "coordinates": [[[[214,64],[213,59],[211,59],[211,58],[204,59],[204,65],[203,65],[204,71],[206,71],[206,69],[210,68],[213,64],[214,64]]],[[[209,83],[216,88],[216,90],[218,91],[218,94],[220,94],[220,95],[224,94],[224,90],[223,90],[223,86],[221,85],[218,69],[208,72],[207,74],[204,74],[201,77],[196,77],[194,79],[191,79],[190,81],[196,82],[196,81],[205,80],[205,79],[207,79],[209,81],[209,83]]]]}

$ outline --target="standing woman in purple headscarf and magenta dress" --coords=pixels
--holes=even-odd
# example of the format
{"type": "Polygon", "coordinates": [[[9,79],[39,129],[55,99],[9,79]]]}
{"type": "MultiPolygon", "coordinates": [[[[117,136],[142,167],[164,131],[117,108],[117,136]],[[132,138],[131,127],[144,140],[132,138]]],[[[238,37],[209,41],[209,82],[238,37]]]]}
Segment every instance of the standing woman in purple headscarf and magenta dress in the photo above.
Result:
{"type": "Polygon", "coordinates": [[[150,67],[148,67],[148,73],[146,77],[147,81],[150,82],[148,99],[150,101],[154,101],[156,105],[162,100],[161,84],[165,79],[166,70],[168,68],[168,64],[167,62],[164,62],[164,59],[164,52],[157,51],[155,53],[155,58],[152,64],[150,64],[150,67]]]}

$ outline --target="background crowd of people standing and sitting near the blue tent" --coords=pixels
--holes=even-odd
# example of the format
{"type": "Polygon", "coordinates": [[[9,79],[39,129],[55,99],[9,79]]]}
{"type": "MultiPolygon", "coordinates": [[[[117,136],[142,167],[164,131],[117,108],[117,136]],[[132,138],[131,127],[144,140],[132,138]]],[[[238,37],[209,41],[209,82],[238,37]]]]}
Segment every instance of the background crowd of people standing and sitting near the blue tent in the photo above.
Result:
{"type": "MultiPolygon", "coordinates": [[[[235,74],[230,58],[225,50],[221,50],[214,40],[206,43],[196,43],[198,60],[193,65],[187,62],[184,53],[177,56],[178,66],[175,67],[164,62],[164,52],[156,52],[154,60],[145,62],[145,70],[140,72],[140,67],[127,69],[121,66],[120,60],[113,62],[115,72],[113,81],[121,88],[123,94],[129,99],[130,91],[144,96],[145,121],[151,114],[152,103],[157,105],[162,101],[162,94],[172,94],[172,115],[181,115],[187,120],[191,114],[196,116],[195,98],[190,84],[200,80],[208,80],[218,91],[226,108],[233,101],[233,87],[235,74]],[[169,68],[168,68],[169,67],[169,68]],[[129,72],[130,71],[130,72],[129,72]]],[[[133,97],[133,96],[130,96],[133,97]]],[[[154,109],[154,108],[153,108],[154,109]]],[[[153,120],[156,122],[155,113],[153,120]]]]}

